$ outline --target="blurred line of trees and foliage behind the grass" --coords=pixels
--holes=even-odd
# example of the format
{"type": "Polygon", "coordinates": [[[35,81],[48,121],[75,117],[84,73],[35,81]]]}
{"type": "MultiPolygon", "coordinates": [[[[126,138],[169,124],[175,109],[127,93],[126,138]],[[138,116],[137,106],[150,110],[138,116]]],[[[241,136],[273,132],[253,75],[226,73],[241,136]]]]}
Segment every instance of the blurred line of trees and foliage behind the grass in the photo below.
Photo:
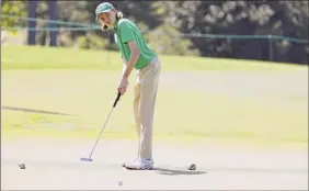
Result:
{"type": "MultiPolygon", "coordinates": [[[[62,21],[93,23],[102,1],[58,1],[62,21]]],[[[308,65],[308,43],[267,38],[210,38],[181,34],[279,35],[308,41],[308,1],[108,1],[145,33],[160,54],[273,60],[308,65]]],[[[3,14],[26,15],[26,1],[2,1],[3,14]],[[4,9],[3,9],[4,5],[4,9]],[[18,9],[16,9],[18,8],[18,9]],[[19,11],[16,11],[19,10],[19,11]]],[[[48,2],[39,1],[36,16],[48,19],[48,2]]],[[[1,19],[1,25],[15,20],[1,19]],[[3,21],[3,22],[2,22],[3,21]]],[[[15,23],[16,24],[16,23],[15,23]]],[[[19,22],[26,25],[25,22],[19,22]]],[[[46,22],[37,23],[44,27],[46,22]]],[[[58,25],[61,26],[61,25],[58,25]]],[[[38,31],[36,44],[48,44],[48,32],[38,31]]],[[[66,31],[57,35],[58,46],[116,49],[113,32],[66,31]]]]}

